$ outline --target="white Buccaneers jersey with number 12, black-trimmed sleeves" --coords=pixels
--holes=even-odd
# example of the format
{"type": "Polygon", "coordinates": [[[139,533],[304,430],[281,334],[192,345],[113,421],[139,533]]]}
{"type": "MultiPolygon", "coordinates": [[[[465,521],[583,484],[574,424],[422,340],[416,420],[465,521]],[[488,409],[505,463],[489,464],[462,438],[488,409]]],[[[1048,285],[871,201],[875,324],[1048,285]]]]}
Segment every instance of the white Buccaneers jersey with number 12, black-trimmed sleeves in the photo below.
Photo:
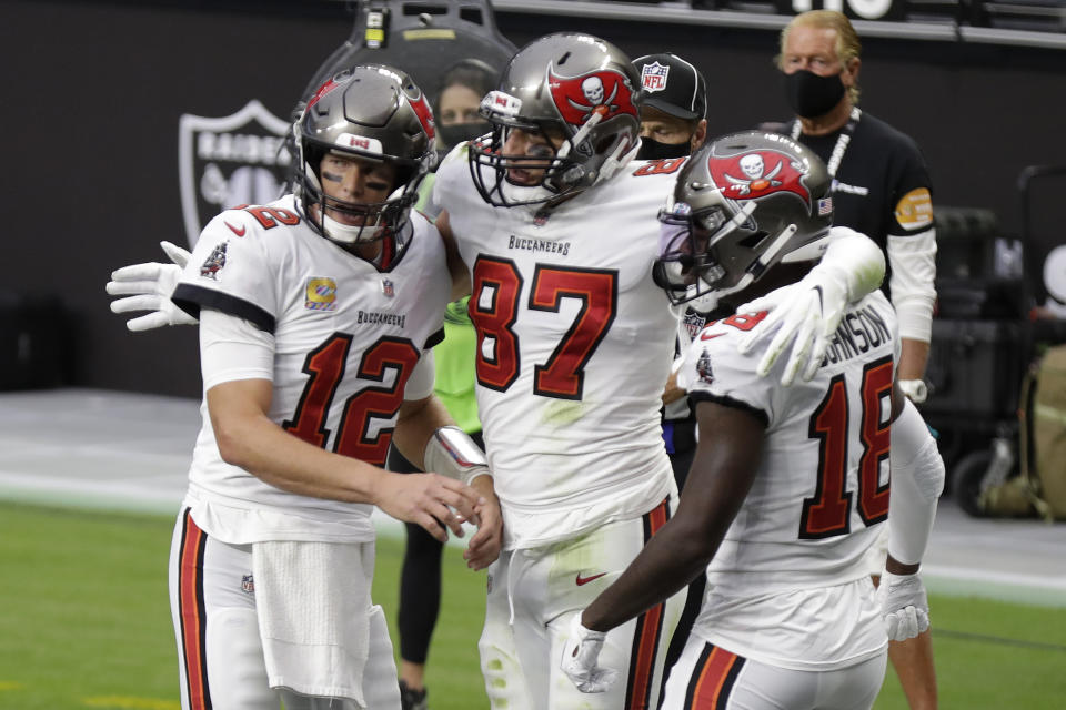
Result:
{"type": "MultiPolygon", "coordinates": [[[[203,230],[174,302],[273,334],[270,418],[382,466],[404,384],[442,335],[452,287],[443,242],[424,217],[412,213],[403,242],[383,242],[374,264],[314,232],[292,195],[229,210],[203,230]]],[[[209,534],[231,544],[373,538],[370,505],[299,496],[223,462],[205,404],[202,412],[189,503],[209,534]]]]}

